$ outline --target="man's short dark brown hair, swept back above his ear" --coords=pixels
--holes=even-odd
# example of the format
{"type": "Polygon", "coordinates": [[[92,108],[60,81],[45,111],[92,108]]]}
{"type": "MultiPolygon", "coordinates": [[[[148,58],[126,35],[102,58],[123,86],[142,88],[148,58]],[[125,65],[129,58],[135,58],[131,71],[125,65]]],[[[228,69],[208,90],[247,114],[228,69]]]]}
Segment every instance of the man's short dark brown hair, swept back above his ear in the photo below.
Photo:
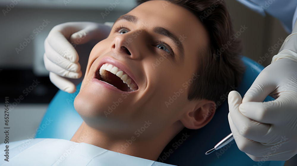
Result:
{"type": "MultiPolygon", "coordinates": [[[[139,0],[138,5],[149,0],[139,0]]],[[[220,100],[230,87],[238,87],[245,67],[241,61],[241,45],[234,36],[233,24],[223,0],[169,0],[185,7],[201,20],[208,31],[210,45],[197,53],[200,75],[190,86],[188,100],[220,100]]]]}

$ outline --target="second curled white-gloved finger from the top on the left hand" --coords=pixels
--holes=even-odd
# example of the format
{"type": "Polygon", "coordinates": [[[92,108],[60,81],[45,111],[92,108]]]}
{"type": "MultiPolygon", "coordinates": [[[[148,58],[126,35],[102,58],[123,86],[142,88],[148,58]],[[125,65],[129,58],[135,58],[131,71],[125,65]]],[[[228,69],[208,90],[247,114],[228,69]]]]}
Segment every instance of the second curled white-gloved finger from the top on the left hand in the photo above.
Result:
{"type": "Polygon", "coordinates": [[[57,65],[61,66],[62,68],[73,71],[73,72],[78,72],[80,71],[80,64],[77,63],[72,63],[68,59],[62,57],[60,54],[58,54],[55,50],[53,50],[50,45],[48,44],[47,41],[45,41],[44,46],[47,48],[46,51],[46,57],[52,61],[53,63],[56,63],[57,65]]]}

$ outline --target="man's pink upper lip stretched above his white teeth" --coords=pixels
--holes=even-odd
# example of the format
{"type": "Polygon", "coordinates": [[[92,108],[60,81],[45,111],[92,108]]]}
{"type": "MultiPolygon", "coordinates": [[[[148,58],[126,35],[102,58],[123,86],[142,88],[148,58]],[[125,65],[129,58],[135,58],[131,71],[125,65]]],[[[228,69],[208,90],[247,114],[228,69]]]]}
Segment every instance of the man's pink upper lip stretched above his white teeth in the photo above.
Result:
{"type": "MultiPolygon", "coordinates": [[[[136,79],[136,77],[134,76],[134,74],[132,73],[132,71],[130,71],[129,67],[127,65],[125,65],[124,63],[121,63],[120,61],[118,61],[118,60],[116,60],[114,58],[110,58],[110,57],[104,57],[104,58],[102,58],[99,61],[99,65],[97,66],[97,69],[96,69],[95,73],[99,70],[99,68],[104,63],[109,63],[109,64],[112,64],[113,66],[116,66],[117,68],[120,68],[122,71],[124,71],[126,74],[128,74],[128,76],[130,78],[132,78],[134,80],[134,82],[137,84],[137,86],[139,88],[138,80],[136,79]]],[[[96,77],[96,74],[95,74],[94,78],[95,77],[96,77]]]]}

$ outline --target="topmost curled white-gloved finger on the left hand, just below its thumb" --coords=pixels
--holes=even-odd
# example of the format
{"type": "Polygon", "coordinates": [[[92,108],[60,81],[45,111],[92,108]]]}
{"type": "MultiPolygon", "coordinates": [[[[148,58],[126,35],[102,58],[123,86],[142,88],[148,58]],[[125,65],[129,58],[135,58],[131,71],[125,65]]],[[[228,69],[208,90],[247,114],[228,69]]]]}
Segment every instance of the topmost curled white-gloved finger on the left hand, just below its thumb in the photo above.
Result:
{"type": "MultiPolygon", "coordinates": [[[[70,37],[70,35],[69,35],[70,37]]],[[[79,58],[75,48],[66,39],[67,35],[64,36],[60,31],[52,29],[45,39],[53,50],[58,52],[64,58],[70,60],[70,62],[77,63],[79,58]]],[[[46,47],[45,47],[46,48],[46,47]]],[[[47,47],[48,48],[48,47],[47,47]]],[[[48,50],[45,49],[45,52],[48,50]]]]}

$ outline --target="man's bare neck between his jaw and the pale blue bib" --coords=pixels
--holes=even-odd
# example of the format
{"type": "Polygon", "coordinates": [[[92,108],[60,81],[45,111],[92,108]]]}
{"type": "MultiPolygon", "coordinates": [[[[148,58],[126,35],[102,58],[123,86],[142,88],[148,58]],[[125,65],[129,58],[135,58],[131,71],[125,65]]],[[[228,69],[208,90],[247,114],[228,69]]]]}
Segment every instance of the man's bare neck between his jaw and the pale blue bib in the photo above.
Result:
{"type": "Polygon", "coordinates": [[[181,122],[177,121],[169,130],[166,129],[163,132],[160,132],[160,134],[154,138],[138,140],[137,138],[127,139],[121,138],[120,136],[117,136],[116,138],[114,136],[110,137],[83,122],[70,141],[88,143],[109,151],[157,161],[165,146],[183,128],[184,126],[181,122]]]}

